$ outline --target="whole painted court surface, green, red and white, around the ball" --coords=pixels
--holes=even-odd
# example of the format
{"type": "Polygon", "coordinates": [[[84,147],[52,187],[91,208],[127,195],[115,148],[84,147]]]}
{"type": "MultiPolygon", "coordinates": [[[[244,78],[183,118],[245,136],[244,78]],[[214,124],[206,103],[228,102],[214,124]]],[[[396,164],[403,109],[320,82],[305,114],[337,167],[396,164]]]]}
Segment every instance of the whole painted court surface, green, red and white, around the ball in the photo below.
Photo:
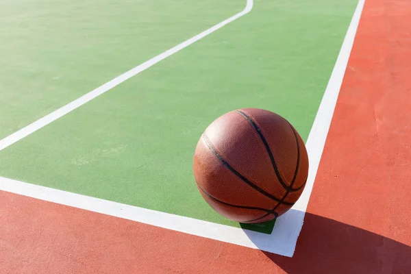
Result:
{"type": "Polygon", "coordinates": [[[411,3],[0,2],[0,273],[410,273],[411,3]],[[236,223],[192,156],[239,108],[310,171],[236,223]],[[3,272],[2,272],[3,271],[3,272]]]}

